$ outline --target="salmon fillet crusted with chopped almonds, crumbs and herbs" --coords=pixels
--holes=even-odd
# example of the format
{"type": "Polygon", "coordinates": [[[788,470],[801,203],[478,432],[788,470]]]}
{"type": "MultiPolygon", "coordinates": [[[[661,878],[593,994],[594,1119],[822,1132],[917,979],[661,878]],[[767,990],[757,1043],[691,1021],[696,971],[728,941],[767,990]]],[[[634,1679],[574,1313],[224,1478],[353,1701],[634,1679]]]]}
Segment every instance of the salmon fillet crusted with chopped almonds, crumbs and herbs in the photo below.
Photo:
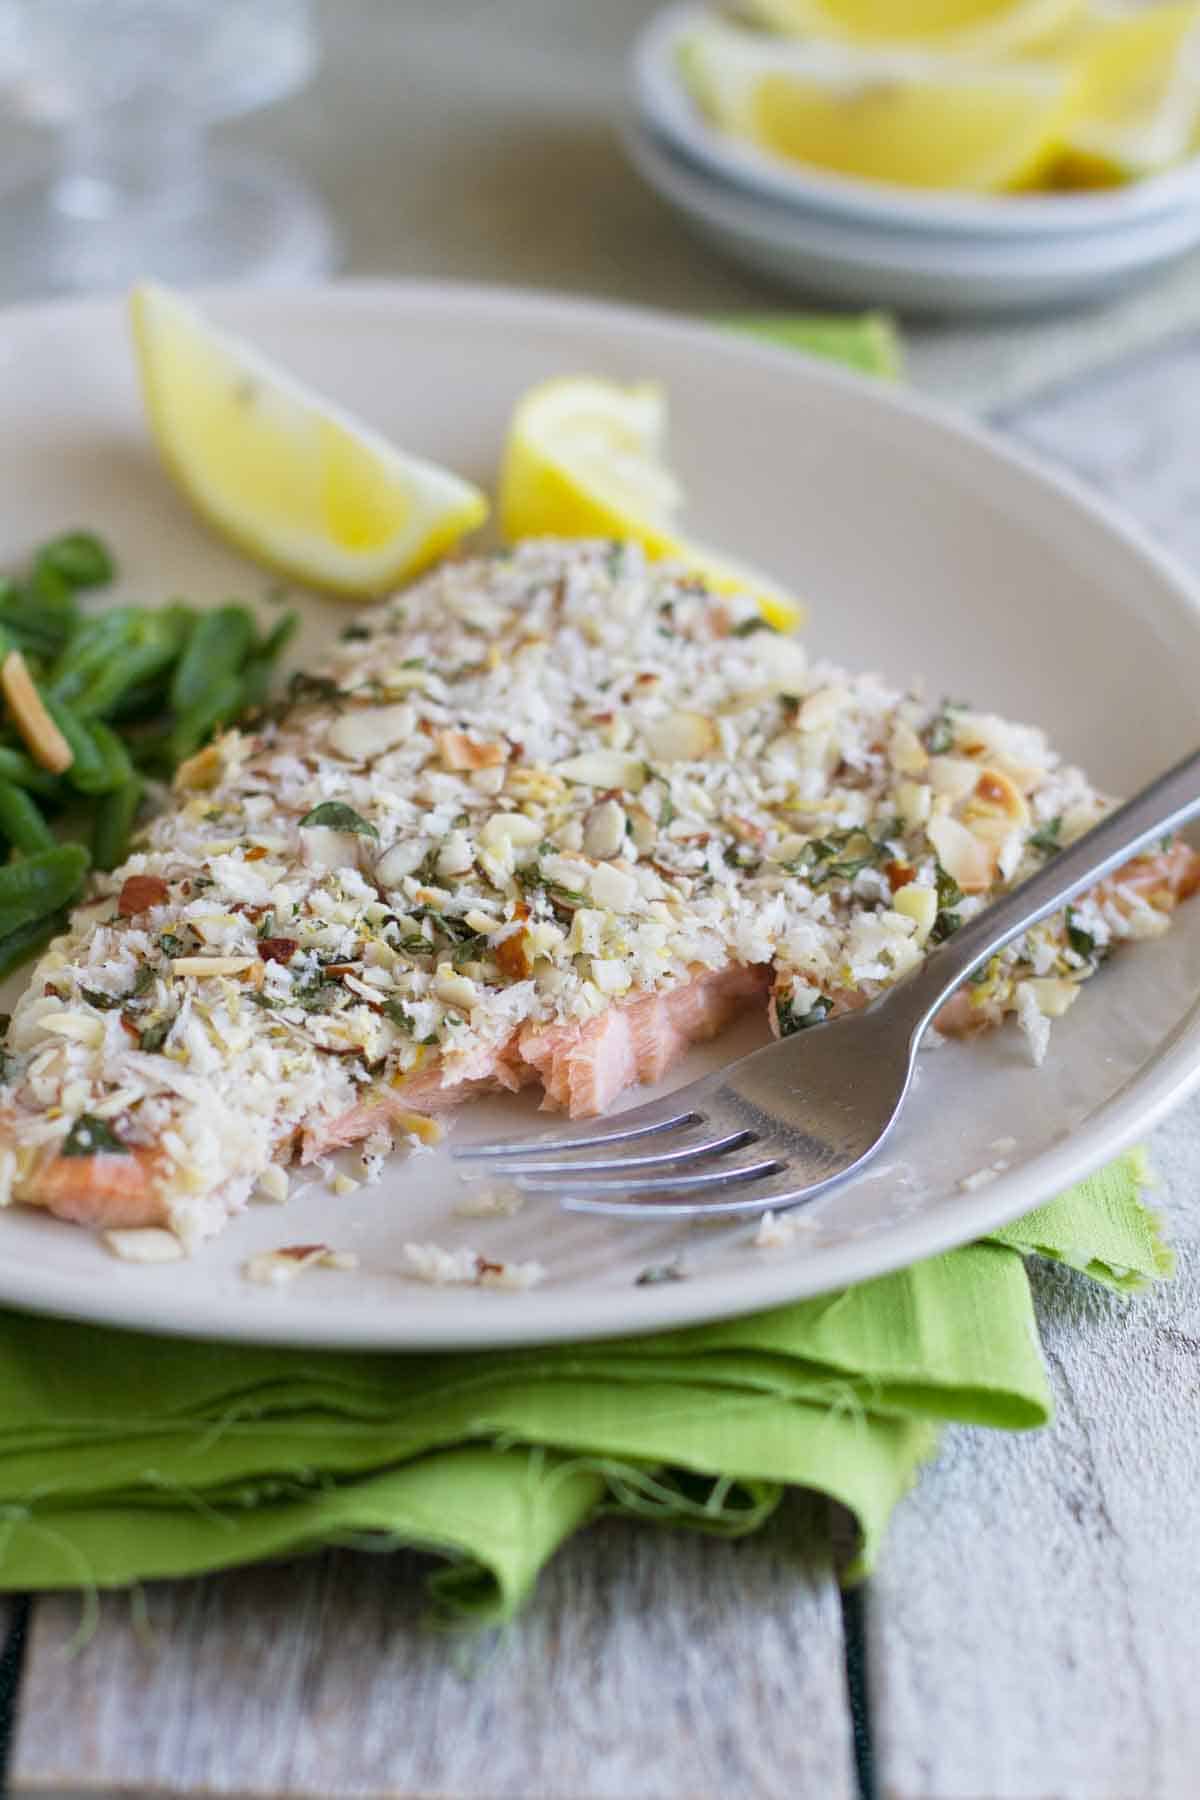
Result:
{"type": "MultiPolygon", "coordinates": [[[[448,563],[97,878],[13,1015],[0,1199],[191,1244],[272,1163],[479,1093],[604,1112],[745,1006],[864,1004],[1106,805],[1040,731],[810,666],[633,547],[448,563]]],[[[1135,859],[943,1022],[1056,1017],[1196,878],[1135,859]]]]}

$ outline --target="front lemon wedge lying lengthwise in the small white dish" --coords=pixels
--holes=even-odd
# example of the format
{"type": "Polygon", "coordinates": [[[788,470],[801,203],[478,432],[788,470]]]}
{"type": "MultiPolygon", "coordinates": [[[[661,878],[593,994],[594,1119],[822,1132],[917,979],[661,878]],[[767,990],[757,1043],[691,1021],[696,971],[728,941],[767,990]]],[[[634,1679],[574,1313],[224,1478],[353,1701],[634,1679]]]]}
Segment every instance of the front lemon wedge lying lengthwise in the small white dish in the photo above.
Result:
{"type": "Polygon", "coordinates": [[[792,43],[711,25],[680,70],[721,130],[862,180],[1002,193],[1054,162],[1079,101],[1074,65],[957,63],[792,43]]]}

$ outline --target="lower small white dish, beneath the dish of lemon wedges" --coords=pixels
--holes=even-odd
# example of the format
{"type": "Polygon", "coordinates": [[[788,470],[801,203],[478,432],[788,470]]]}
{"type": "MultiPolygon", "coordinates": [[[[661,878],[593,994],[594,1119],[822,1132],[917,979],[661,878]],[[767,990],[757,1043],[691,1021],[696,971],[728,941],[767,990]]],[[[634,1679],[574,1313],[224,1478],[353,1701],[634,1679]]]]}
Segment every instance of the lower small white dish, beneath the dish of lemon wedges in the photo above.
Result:
{"type": "Polygon", "coordinates": [[[801,293],[864,306],[988,317],[1090,304],[1200,243],[1200,207],[1029,243],[894,232],[757,200],[635,124],[624,142],[649,185],[727,256],[801,293]]]}

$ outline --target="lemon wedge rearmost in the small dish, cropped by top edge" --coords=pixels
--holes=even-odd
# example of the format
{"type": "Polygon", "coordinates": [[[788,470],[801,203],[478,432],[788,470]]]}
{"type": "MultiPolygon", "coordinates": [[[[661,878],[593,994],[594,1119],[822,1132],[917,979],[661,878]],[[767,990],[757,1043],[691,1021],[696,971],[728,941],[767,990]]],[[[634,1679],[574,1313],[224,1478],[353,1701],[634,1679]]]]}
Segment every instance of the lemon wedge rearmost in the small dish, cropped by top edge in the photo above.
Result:
{"type": "Polygon", "coordinates": [[[743,0],[772,31],[873,49],[1013,56],[1056,43],[1087,0],[743,0]]]}

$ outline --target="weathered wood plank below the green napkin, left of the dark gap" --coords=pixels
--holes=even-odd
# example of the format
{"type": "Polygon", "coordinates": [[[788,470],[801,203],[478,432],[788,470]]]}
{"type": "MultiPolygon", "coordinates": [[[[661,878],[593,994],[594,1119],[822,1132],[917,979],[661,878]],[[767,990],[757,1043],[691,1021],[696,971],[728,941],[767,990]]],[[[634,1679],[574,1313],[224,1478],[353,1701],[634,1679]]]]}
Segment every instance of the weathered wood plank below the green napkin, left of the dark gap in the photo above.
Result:
{"type": "Polygon", "coordinates": [[[41,1600],[14,1796],[849,1800],[840,1602],[822,1505],[714,1543],[606,1523],[484,1656],[419,1625],[423,1562],[338,1553],[41,1600]],[[475,1663],[470,1669],[470,1663],[475,1663]]]}

